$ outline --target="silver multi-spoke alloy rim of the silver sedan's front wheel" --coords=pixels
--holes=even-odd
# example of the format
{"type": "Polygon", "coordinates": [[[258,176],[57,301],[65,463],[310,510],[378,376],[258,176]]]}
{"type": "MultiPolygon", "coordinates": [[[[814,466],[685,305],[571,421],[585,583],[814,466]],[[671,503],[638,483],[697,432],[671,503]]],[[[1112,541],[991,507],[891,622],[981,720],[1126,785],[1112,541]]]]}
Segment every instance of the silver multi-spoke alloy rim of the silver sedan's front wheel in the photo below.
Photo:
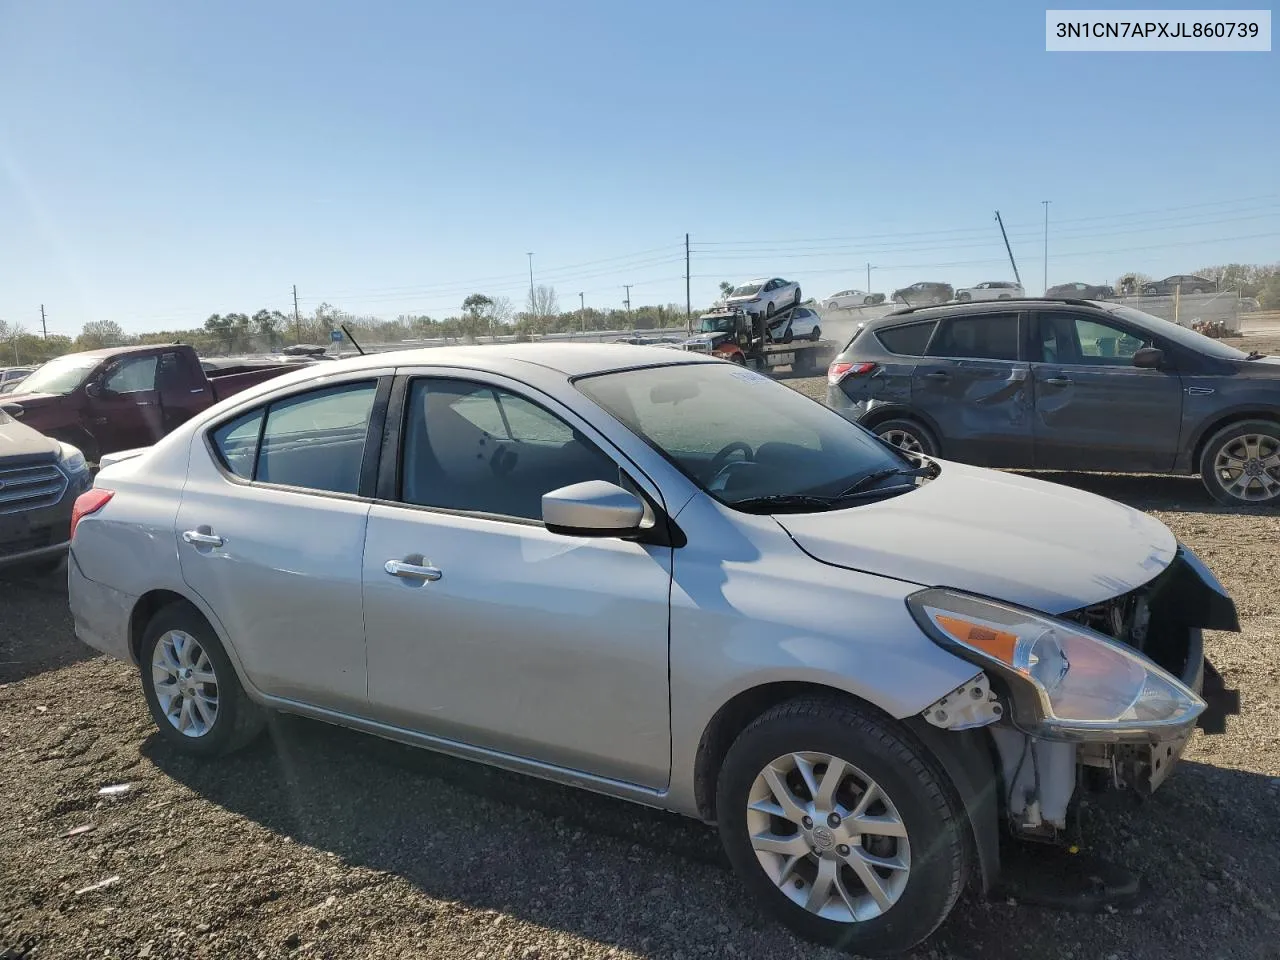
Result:
{"type": "Polygon", "coordinates": [[[769,763],[751,785],[746,828],[778,891],[824,919],[874,919],[906,890],[902,817],[876,781],[838,756],[794,753],[769,763]]]}

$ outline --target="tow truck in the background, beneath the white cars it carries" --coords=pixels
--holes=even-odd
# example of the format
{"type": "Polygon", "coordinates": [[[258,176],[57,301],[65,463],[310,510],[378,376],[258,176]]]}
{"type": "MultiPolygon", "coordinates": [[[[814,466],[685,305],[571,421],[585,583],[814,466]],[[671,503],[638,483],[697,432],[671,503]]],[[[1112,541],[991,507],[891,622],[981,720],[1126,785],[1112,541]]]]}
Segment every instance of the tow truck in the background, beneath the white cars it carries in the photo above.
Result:
{"type": "Polygon", "coordinates": [[[716,307],[698,317],[698,333],[676,346],[692,353],[709,353],[751,370],[773,372],[790,367],[795,376],[817,376],[838,353],[833,340],[783,343],[774,339],[772,333],[786,330],[791,312],[800,307],[813,308],[813,305],[792,303],[769,317],[763,312],[749,314],[741,307],[716,307]]]}

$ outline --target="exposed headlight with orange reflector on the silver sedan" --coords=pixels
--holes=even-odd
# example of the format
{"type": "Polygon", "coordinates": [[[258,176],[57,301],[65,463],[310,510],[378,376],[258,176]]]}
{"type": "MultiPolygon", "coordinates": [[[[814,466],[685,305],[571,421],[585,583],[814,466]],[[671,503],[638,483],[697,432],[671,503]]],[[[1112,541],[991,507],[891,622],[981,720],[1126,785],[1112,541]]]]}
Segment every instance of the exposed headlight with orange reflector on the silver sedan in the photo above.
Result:
{"type": "Polygon", "coordinates": [[[1004,678],[1014,726],[1043,740],[1161,740],[1204,701],[1133,648],[1011,604],[931,588],[906,605],[937,644],[1004,678]]]}

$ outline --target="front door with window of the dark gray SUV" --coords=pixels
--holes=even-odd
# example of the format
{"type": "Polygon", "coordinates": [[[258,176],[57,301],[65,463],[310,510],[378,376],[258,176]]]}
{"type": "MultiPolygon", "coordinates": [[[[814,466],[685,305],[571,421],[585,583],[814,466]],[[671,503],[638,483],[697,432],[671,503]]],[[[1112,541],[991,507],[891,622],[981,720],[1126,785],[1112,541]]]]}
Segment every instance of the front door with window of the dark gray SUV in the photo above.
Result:
{"type": "Polygon", "coordinates": [[[1093,315],[1037,317],[1036,466],[1047,470],[1172,470],[1181,428],[1181,379],[1133,366],[1149,339],[1093,315]]]}

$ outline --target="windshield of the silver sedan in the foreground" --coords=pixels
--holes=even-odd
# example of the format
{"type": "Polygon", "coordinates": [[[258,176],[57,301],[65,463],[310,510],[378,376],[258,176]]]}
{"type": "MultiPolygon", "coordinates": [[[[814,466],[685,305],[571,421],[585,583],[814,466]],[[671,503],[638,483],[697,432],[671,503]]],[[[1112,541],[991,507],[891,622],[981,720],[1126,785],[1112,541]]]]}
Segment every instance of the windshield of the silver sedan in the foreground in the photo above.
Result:
{"type": "Polygon", "coordinates": [[[838,413],[727,364],[600,374],[577,388],[730,507],[760,497],[840,497],[863,477],[910,468],[838,413]]]}

